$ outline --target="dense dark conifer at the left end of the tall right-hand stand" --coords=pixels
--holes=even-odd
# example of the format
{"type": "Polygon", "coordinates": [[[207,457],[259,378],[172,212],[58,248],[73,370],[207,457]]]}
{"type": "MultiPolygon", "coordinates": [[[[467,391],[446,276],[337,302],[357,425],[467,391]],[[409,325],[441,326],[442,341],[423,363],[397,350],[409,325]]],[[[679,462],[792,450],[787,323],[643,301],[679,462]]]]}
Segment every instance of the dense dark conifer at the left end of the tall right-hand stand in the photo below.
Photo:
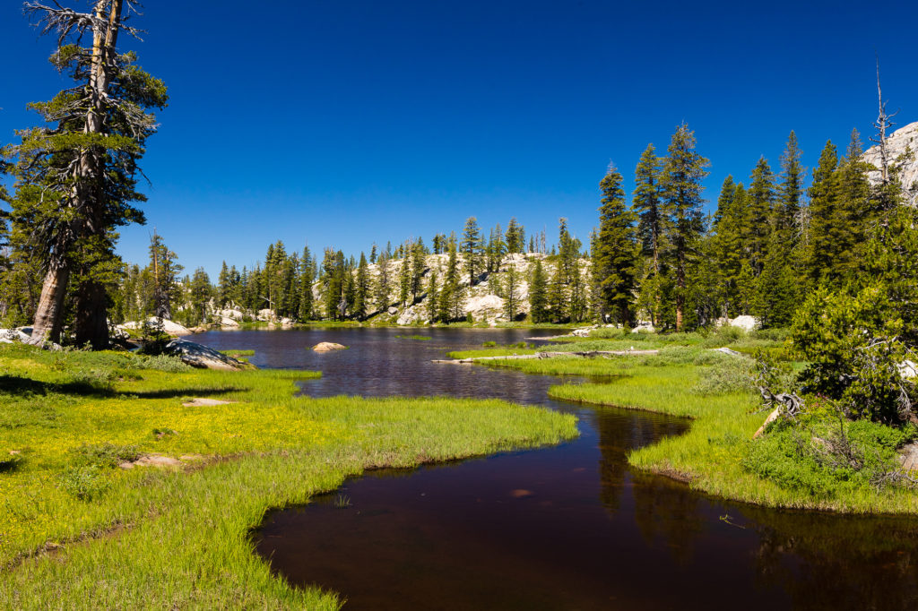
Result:
{"type": "Polygon", "coordinates": [[[631,326],[635,267],[638,253],[636,215],[625,206],[621,174],[610,166],[599,183],[599,233],[592,249],[594,285],[599,316],[614,315],[617,322],[631,326]]]}

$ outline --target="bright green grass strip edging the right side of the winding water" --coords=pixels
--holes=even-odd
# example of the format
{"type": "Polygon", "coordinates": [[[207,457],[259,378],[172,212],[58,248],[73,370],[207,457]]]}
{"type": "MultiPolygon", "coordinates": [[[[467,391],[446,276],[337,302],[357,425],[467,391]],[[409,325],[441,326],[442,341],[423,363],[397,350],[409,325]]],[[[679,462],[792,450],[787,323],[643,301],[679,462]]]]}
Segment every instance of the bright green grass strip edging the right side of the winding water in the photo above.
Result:
{"type": "MultiPolygon", "coordinates": [[[[580,343],[599,349],[595,341],[580,343]]],[[[609,381],[605,383],[554,385],[548,394],[564,401],[691,418],[687,433],[634,450],[628,460],[640,469],[689,482],[696,490],[767,506],[918,514],[918,494],[902,487],[887,486],[878,491],[863,478],[848,477],[844,485],[837,485],[826,494],[825,488],[813,491],[804,486],[781,485],[777,477],[763,477],[761,470],[750,468],[747,457],[755,458],[756,453],[762,453],[762,439],[754,442],[752,436],[766,414],[759,411],[757,394],[745,383],[738,383],[747,375],[742,369],[748,368],[749,363],[707,350],[703,348],[705,343],[661,344],[660,353],[655,356],[556,357],[482,361],[482,364],[546,375],[606,377],[609,381]]],[[[868,453],[874,447],[880,452],[888,450],[881,443],[868,443],[865,447],[868,453]]],[[[802,462],[799,467],[810,469],[802,462]]]]}

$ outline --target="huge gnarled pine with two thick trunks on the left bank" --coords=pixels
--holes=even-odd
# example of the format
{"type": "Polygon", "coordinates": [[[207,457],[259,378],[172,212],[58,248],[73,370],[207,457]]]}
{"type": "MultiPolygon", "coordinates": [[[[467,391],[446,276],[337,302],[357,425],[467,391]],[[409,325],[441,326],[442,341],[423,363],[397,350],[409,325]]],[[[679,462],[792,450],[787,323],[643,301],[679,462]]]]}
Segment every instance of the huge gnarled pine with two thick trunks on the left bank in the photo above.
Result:
{"type": "Polygon", "coordinates": [[[28,226],[46,270],[33,323],[32,341],[59,341],[64,297],[72,275],[73,331],[78,343],[108,344],[108,285],[120,261],[114,253],[116,228],[144,222],[134,206],[138,162],[146,139],[156,131],[148,108],[166,106],[165,86],[135,64],[133,53],[118,53],[118,33],[136,34],[125,23],[121,0],[96,0],[91,14],[57,3],[28,2],[42,33],[54,32],[50,57],[74,82],[50,102],[30,105],[51,127],[19,132],[21,144],[7,147],[15,158],[13,222],[28,226]],[[89,48],[83,40],[92,40],[89,48]]]}

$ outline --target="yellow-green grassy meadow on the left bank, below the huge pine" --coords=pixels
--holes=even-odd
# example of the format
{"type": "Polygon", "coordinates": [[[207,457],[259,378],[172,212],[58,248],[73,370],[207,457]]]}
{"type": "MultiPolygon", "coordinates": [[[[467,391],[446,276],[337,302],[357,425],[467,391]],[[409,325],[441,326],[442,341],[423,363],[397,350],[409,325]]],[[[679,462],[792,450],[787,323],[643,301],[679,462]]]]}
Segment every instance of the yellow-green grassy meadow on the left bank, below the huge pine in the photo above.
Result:
{"type": "Polygon", "coordinates": [[[0,608],[337,608],[253,553],[266,510],[368,468],[577,435],[574,417],[497,400],[311,399],[295,383],[318,373],[171,367],[0,348],[0,608]],[[185,466],[114,466],[144,453],[185,466]]]}

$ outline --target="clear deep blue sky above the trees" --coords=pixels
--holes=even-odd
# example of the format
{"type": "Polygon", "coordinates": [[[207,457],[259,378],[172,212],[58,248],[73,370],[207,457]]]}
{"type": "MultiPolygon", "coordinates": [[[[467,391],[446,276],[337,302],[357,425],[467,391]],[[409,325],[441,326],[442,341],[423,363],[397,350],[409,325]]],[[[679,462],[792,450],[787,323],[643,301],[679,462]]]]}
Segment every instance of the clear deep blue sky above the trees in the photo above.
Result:
{"type": "MultiPolygon", "coordinates": [[[[65,84],[17,0],[0,6],[0,143],[65,84]]],[[[84,0],[64,5],[85,6],[84,0]]],[[[685,121],[724,177],[772,166],[791,129],[811,167],[826,139],[865,141],[874,53],[899,126],[918,121],[918,3],[147,0],[121,39],[169,86],[142,168],[155,227],[189,271],[270,242],[348,253],[465,217],[586,241],[610,162],[625,175],[685,121]]]]}

